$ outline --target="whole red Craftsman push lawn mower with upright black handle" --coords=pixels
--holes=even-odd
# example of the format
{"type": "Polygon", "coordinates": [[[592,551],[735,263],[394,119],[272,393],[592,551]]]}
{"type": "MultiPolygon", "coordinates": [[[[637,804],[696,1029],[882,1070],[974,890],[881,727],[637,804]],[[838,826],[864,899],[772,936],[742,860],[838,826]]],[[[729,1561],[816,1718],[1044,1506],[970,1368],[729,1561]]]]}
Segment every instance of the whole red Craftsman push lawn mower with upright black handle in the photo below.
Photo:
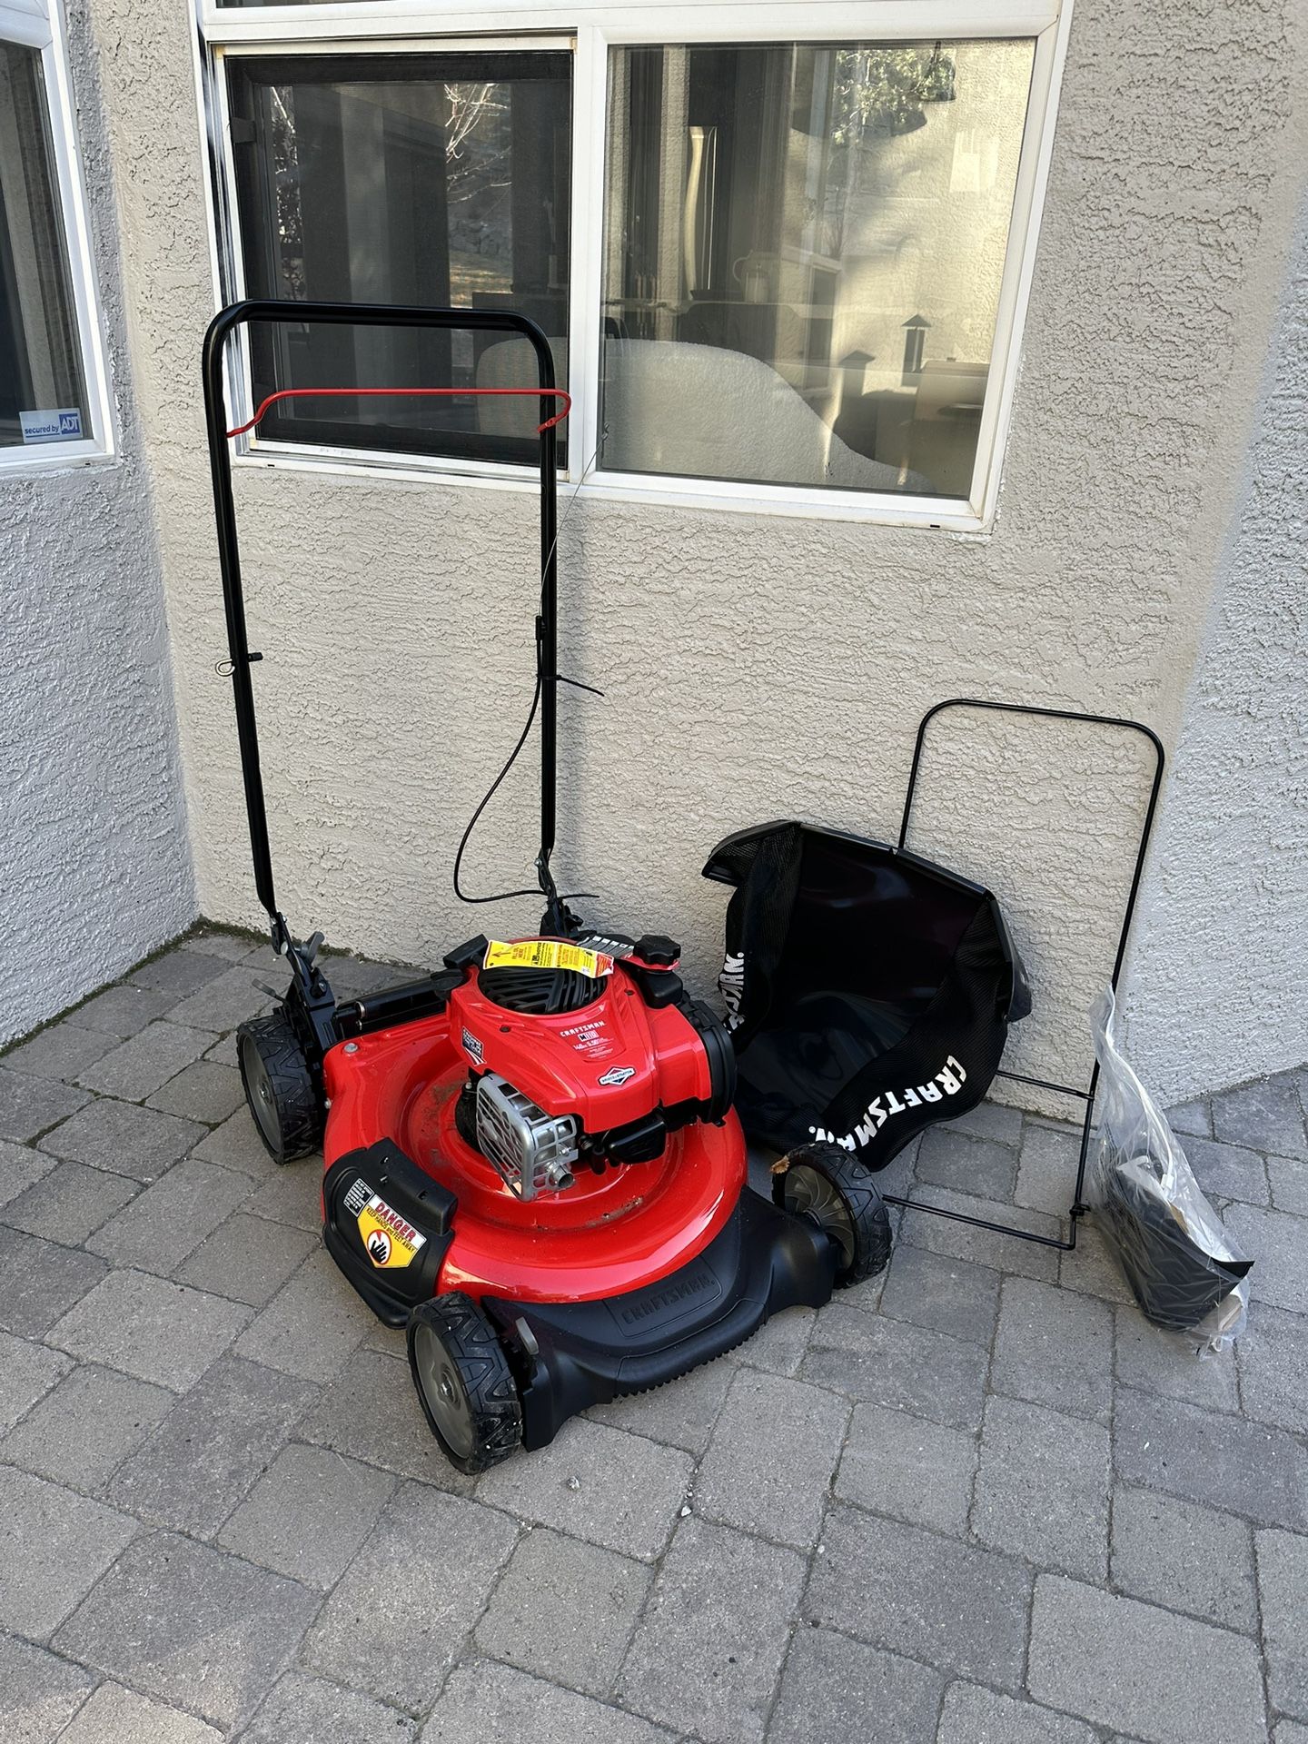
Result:
{"type": "MultiPolygon", "coordinates": [[[[269,396],[251,424],[295,392],[305,391],[269,396]]],[[[544,1446],[586,1406],[670,1381],[771,1313],[820,1306],[834,1285],[879,1271],[886,1209],[869,1168],[830,1144],[774,1165],[769,1198],[753,1191],[732,1039],[687,994],[678,945],[588,933],[555,886],[556,685],[567,682],[556,426],[569,401],[541,330],[509,312],[244,302],[209,326],[204,394],[255,882],[291,971],[277,1010],[237,1032],[246,1097],[277,1163],[321,1144],[326,1247],[387,1325],[408,1327],[427,1421],[459,1470],[480,1472],[544,1446]],[[333,996],[323,935],[296,944],[274,895],[251,684],[263,656],[246,637],[228,450],[239,431],[225,413],[225,345],[248,323],[518,335],[535,352],[537,387],[481,392],[539,396],[551,412],[539,426],[535,698],[513,753],[539,713],[539,933],[473,938],[436,973],[363,999],[333,996]]],[[[466,842],[467,832],[460,855],[466,842]]]]}

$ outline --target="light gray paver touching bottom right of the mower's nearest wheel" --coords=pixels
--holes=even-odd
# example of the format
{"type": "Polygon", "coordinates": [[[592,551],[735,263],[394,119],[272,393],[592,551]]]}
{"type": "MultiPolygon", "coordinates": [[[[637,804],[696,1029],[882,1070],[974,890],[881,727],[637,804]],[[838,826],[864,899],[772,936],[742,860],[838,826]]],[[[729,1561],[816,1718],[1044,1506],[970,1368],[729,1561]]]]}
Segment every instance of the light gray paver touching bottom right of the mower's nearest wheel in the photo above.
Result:
{"type": "Polygon", "coordinates": [[[652,1563],[677,1524],[691,1470],[677,1448],[574,1418],[528,1460],[492,1467],[476,1495],[520,1519],[652,1563]]]}

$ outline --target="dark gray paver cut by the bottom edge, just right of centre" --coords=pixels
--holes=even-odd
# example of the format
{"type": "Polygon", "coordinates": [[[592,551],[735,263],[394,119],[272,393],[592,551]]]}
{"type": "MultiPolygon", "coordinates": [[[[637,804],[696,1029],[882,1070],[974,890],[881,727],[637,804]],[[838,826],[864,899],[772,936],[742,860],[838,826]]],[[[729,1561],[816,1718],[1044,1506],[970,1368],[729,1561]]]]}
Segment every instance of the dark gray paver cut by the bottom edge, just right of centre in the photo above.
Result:
{"type": "Polygon", "coordinates": [[[834,1629],[799,1629],[767,1744],[893,1739],[933,1744],[944,1678],[834,1629]]]}

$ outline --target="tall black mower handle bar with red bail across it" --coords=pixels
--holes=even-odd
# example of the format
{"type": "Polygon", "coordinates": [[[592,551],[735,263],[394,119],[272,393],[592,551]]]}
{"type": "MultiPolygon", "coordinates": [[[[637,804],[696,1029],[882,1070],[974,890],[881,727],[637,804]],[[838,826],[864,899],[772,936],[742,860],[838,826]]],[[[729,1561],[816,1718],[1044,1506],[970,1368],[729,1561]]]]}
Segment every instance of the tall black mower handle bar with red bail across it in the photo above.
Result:
{"type": "MultiPolygon", "coordinates": [[[[235,501],[232,497],[232,455],[228,438],[239,431],[227,427],[227,394],[223,364],[227,342],[239,326],[267,321],[272,326],[410,326],[445,331],[506,333],[525,338],[535,352],[539,387],[525,389],[457,389],[478,394],[537,394],[558,396],[567,401],[555,417],[537,426],[541,438],[541,609],[535,619],[537,673],[541,677],[541,851],[537,877],[541,895],[551,909],[558,909],[558,891],[549,870],[556,830],[556,766],[558,766],[558,441],[556,426],[569,412],[570,399],[555,385],[555,358],[549,340],[527,316],[509,309],[424,309],[410,303],[317,303],[277,298],[249,298],[220,309],[204,335],[202,380],[204,422],[209,441],[209,471],[213,476],[213,509],[218,525],[218,565],[223,582],[223,609],[227,617],[227,649],[230,657],[232,699],[235,703],[237,741],[241,746],[241,776],[249,820],[249,849],[255,862],[255,888],[272,926],[277,950],[290,954],[293,940],[284,917],[277,910],[272,879],[272,853],[269,848],[269,814],[263,797],[263,773],[258,757],[258,722],[255,715],[255,687],[249,677],[260,652],[249,651],[246,602],[241,584],[241,546],[237,541],[235,501]]],[[[267,408],[283,398],[307,392],[419,392],[453,394],[455,389],[281,389],[270,394],[255,413],[258,424],[267,408]]],[[[251,424],[241,426],[249,429],[251,424]]]]}

